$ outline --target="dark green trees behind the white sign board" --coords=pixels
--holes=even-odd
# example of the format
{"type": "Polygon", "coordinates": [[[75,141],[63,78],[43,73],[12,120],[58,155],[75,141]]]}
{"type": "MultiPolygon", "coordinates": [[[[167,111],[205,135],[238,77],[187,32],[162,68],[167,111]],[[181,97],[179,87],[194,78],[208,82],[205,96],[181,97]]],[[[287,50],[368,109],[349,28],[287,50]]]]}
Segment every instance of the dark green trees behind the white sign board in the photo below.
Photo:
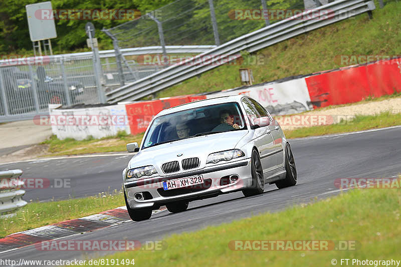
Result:
{"type": "MultiPolygon", "coordinates": [[[[28,53],[32,51],[32,42],[29,37],[27,13],[25,6],[43,2],[42,0],[2,0],[0,3],[0,53],[28,53]]],[[[57,9],[138,9],[141,11],[153,10],[172,2],[171,0],[157,0],[151,3],[147,0],[108,0],[108,1],[77,1],[53,0],[52,7],[57,9]]],[[[56,21],[57,39],[52,40],[54,53],[83,49],[86,47],[86,20],[58,20],[56,21]]],[[[111,28],[125,21],[95,20],[91,21],[96,28],[96,37],[101,49],[111,49],[110,38],[100,30],[111,28]]]]}

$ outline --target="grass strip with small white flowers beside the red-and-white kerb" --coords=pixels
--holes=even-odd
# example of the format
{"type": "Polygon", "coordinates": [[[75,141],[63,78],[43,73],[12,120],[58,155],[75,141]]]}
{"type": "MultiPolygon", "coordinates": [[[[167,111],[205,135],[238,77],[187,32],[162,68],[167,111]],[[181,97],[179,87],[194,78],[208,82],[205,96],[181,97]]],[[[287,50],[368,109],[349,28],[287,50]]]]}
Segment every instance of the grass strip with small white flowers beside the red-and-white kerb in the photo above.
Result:
{"type": "Polygon", "coordinates": [[[17,215],[0,219],[0,238],[11,233],[76,219],[124,205],[123,192],[117,190],[83,198],[49,202],[30,201],[16,212],[17,215]]]}

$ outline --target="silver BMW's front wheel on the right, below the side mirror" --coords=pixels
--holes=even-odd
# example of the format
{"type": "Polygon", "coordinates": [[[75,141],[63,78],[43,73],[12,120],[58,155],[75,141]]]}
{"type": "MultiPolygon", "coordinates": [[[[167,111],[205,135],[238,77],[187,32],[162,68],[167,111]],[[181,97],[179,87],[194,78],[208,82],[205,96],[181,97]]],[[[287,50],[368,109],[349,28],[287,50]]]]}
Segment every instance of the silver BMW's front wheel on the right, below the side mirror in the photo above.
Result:
{"type": "Polygon", "coordinates": [[[259,152],[255,148],[252,150],[251,160],[252,185],[251,188],[242,190],[245,196],[254,196],[262,194],[265,190],[265,178],[263,176],[262,162],[259,152]]]}

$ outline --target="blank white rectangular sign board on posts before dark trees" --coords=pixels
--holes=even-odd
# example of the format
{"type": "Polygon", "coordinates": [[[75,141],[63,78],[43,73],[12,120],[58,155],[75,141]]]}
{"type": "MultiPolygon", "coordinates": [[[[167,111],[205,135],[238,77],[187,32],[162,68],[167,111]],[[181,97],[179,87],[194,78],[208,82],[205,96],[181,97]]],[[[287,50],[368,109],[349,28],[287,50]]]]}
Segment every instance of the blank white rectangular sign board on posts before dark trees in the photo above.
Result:
{"type": "Polygon", "coordinates": [[[53,16],[43,16],[53,11],[51,2],[26,5],[25,8],[32,42],[57,38],[53,16]]]}

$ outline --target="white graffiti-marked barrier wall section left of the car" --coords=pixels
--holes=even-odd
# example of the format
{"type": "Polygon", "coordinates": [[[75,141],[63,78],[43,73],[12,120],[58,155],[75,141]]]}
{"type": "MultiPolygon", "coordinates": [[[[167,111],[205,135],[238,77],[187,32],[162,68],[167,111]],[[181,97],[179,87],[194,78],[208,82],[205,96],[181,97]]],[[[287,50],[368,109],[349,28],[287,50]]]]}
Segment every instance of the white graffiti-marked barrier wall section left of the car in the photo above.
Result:
{"type": "Polygon", "coordinates": [[[54,109],[49,105],[52,131],[61,140],[102,138],[118,131],[130,133],[125,105],[92,107],[85,109],[54,109]]]}

